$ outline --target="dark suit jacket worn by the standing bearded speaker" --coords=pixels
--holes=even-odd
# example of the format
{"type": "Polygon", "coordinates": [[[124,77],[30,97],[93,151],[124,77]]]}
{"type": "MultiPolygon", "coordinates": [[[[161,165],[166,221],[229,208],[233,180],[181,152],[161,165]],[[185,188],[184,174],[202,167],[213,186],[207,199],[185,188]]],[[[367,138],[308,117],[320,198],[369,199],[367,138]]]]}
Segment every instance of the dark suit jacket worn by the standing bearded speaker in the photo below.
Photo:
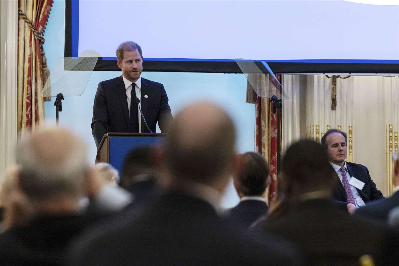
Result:
{"type": "MultiPolygon", "coordinates": [[[[166,132],[172,120],[172,112],[168,104],[168,96],[164,85],[141,78],[141,110],[148,127],[156,132],[158,121],[161,132],[166,132]],[[144,97],[148,95],[148,97],[144,97]]],[[[131,106],[136,104],[132,101],[131,106]]],[[[108,132],[138,132],[138,124],[131,128],[127,105],[126,88],[122,75],[99,83],[93,105],[91,131],[98,148],[104,134],[108,132]]],[[[149,132],[141,118],[141,131],[149,132]]]]}

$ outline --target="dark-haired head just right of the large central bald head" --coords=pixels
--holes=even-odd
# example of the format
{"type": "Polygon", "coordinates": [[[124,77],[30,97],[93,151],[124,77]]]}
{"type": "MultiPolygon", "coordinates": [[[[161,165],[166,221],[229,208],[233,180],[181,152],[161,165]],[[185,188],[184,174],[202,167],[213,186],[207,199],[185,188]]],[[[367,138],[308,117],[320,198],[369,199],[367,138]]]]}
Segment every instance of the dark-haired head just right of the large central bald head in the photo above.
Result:
{"type": "Polygon", "coordinates": [[[269,180],[269,166],[265,158],[257,152],[241,155],[242,167],[235,177],[238,189],[246,196],[261,195],[269,180]]]}

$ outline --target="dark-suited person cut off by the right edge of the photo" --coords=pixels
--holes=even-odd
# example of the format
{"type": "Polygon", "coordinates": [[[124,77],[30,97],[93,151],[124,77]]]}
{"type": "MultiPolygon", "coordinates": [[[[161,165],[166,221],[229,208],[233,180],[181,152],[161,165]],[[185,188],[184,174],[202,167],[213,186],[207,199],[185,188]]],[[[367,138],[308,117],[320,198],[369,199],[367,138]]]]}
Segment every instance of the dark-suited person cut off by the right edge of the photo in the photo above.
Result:
{"type": "Polygon", "coordinates": [[[392,160],[392,181],[394,185],[392,196],[386,199],[383,198],[373,201],[364,207],[356,209],[355,215],[387,222],[389,211],[399,206],[399,160],[397,154],[393,154],[392,160]]]}

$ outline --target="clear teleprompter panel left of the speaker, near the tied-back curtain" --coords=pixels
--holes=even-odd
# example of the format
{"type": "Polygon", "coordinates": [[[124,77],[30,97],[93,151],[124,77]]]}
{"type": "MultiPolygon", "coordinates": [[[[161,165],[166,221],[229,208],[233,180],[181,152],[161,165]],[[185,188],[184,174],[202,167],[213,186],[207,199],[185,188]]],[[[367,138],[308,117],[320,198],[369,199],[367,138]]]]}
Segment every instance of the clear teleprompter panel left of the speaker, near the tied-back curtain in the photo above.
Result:
{"type": "Polygon", "coordinates": [[[97,63],[98,57],[62,57],[55,61],[43,88],[43,97],[80,96],[97,63]]]}

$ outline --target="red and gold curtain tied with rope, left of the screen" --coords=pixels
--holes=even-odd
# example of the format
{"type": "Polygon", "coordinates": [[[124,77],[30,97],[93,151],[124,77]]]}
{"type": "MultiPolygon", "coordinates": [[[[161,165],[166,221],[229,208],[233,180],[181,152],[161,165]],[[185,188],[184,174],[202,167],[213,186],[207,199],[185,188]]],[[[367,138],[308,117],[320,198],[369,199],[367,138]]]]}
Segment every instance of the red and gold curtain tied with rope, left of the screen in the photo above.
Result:
{"type": "Polygon", "coordinates": [[[18,0],[18,133],[35,130],[44,121],[41,95],[44,39],[53,0],[18,0]]]}

